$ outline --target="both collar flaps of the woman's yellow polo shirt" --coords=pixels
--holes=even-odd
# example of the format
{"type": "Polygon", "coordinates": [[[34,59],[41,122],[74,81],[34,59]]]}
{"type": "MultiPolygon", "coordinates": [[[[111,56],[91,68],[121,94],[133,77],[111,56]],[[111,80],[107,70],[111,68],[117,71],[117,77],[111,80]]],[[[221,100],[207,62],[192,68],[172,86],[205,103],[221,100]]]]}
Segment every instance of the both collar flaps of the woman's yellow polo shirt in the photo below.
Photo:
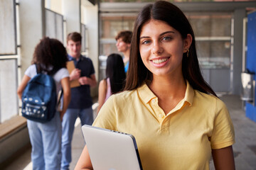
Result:
{"type": "MultiPolygon", "coordinates": [[[[138,89],[138,94],[142,101],[144,103],[149,103],[153,98],[157,98],[156,95],[149,89],[149,86],[142,84],[138,89]]],[[[186,92],[185,92],[185,97],[183,98],[183,101],[186,101],[189,103],[189,106],[193,104],[193,96],[194,96],[194,90],[192,86],[186,81],[186,92]]]]}

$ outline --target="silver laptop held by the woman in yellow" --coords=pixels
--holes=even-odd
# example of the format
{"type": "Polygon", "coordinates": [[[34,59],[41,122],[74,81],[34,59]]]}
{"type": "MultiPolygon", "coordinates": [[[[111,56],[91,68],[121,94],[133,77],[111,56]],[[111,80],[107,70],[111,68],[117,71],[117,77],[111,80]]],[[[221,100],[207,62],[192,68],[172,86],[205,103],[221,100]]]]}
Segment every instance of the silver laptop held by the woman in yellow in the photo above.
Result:
{"type": "Polygon", "coordinates": [[[132,135],[114,130],[82,126],[93,169],[142,170],[139,151],[132,135]]]}

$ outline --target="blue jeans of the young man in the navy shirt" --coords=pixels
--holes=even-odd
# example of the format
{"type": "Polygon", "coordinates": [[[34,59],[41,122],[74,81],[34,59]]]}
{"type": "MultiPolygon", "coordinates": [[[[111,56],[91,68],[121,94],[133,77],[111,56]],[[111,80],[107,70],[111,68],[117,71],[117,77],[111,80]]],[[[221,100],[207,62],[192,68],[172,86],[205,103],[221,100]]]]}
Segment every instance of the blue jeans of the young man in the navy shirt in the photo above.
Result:
{"type": "Polygon", "coordinates": [[[61,169],[69,169],[69,164],[72,160],[71,157],[71,141],[73,138],[75,120],[78,118],[81,120],[81,125],[92,125],[93,115],[92,107],[90,108],[68,108],[63,116],[63,133],[62,133],[62,158],[61,169]]]}

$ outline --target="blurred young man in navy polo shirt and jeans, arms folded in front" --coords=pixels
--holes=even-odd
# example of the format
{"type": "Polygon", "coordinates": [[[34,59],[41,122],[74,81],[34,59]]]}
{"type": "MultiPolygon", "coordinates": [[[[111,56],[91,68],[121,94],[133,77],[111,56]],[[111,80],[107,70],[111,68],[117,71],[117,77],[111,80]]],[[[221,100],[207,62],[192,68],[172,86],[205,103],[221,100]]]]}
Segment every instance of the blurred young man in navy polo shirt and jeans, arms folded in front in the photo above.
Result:
{"type": "Polygon", "coordinates": [[[90,87],[97,84],[95,69],[89,57],[82,56],[82,36],[80,33],[69,33],[67,36],[68,60],[75,63],[70,81],[78,79],[80,86],[71,88],[71,101],[63,117],[62,159],[61,169],[69,169],[71,157],[71,142],[73,138],[75,120],[79,117],[81,125],[92,125],[92,97],[90,87]]]}

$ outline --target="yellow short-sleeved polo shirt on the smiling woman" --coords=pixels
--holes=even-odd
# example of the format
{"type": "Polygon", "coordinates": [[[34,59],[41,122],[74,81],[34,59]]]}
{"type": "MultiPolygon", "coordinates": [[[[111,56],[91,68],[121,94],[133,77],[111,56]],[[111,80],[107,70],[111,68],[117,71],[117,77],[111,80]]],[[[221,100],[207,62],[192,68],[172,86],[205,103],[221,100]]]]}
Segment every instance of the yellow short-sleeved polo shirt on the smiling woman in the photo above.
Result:
{"type": "Polygon", "coordinates": [[[209,169],[211,149],[233,145],[233,123],[225,104],[193,90],[167,115],[144,84],[110,96],[94,126],[134,135],[143,169],[209,169]]]}

